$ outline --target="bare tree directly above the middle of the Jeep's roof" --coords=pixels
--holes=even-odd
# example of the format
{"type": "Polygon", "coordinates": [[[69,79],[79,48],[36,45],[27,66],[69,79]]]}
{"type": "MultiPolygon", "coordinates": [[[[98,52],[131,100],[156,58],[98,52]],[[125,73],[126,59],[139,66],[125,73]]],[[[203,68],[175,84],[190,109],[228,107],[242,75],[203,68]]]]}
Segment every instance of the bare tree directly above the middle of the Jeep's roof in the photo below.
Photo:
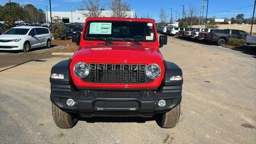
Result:
{"type": "Polygon", "coordinates": [[[112,0],[109,4],[112,17],[116,18],[126,18],[129,16],[130,4],[127,2],[120,2],[121,0],[112,0]]]}

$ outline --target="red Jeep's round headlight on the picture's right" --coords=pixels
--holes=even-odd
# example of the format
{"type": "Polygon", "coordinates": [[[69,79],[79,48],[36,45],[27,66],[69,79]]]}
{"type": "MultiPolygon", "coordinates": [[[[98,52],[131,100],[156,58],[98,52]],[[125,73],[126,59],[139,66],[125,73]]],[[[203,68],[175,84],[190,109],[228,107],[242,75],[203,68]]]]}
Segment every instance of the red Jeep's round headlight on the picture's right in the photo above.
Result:
{"type": "Polygon", "coordinates": [[[154,80],[158,78],[161,74],[161,68],[158,64],[150,64],[146,68],[146,75],[148,78],[154,80]]]}

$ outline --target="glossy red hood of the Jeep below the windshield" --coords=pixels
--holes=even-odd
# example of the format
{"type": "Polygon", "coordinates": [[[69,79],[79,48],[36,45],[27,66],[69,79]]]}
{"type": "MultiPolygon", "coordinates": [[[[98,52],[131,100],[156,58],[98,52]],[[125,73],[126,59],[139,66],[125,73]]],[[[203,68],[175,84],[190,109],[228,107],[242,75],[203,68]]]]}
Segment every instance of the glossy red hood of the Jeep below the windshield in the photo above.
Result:
{"type": "Polygon", "coordinates": [[[162,62],[158,48],[131,45],[85,45],[74,53],[73,60],[132,60],[162,62]]]}

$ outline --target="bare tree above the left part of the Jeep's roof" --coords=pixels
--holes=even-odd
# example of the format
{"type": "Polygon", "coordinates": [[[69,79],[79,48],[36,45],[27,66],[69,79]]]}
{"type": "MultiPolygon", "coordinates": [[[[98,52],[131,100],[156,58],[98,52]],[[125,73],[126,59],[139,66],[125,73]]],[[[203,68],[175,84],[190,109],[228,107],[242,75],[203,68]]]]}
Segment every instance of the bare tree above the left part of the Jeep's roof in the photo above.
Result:
{"type": "Polygon", "coordinates": [[[81,0],[80,4],[76,6],[76,10],[85,18],[99,17],[106,6],[106,1],[101,3],[100,0],[81,0]]]}

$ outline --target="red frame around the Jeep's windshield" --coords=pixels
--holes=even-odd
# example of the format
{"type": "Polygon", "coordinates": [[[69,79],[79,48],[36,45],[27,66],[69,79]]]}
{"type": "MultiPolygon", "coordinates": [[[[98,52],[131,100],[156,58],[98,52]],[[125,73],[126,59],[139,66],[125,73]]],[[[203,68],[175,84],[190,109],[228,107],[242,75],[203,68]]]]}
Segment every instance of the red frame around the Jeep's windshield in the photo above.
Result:
{"type": "MultiPolygon", "coordinates": [[[[89,33],[89,29],[90,29],[90,24],[92,23],[92,22],[104,22],[104,23],[106,23],[106,22],[144,22],[144,23],[152,23],[153,24],[153,28],[152,28],[152,31],[153,31],[153,33],[154,33],[154,39],[153,40],[146,40],[146,39],[144,39],[144,40],[142,40],[142,39],[133,39],[133,38],[129,38],[129,37],[126,37],[126,38],[115,38],[115,37],[110,37],[110,38],[108,38],[108,37],[106,37],[106,38],[103,38],[103,39],[106,39],[106,40],[111,40],[112,42],[124,42],[124,40],[121,40],[121,39],[131,39],[131,40],[134,40],[134,41],[136,41],[136,42],[156,42],[156,40],[157,40],[157,34],[156,34],[156,30],[155,30],[155,24],[153,23],[153,22],[150,22],[150,21],[126,21],[126,20],[88,20],[88,22],[86,22],[86,25],[84,26],[85,28],[84,28],[84,32],[83,32],[83,34],[82,34],[82,38],[83,38],[83,40],[85,40],[85,41],[99,41],[99,40],[97,40],[97,39],[92,39],[92,38],[96,38],[96,37],[87,37],[86,38],[86,35],[89,33]],[[113,38],[113,39],[112,39],[113,38]]],[[[98,38],[102,38],[102,37],[98,37],[98,38]]]]}

